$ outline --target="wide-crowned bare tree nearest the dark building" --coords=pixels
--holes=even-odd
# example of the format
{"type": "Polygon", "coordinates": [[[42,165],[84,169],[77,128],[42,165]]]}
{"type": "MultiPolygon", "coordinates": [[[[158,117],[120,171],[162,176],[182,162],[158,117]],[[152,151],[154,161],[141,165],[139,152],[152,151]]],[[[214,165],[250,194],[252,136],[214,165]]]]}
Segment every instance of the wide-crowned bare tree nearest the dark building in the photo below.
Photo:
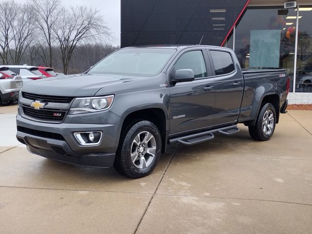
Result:
{"type": "Polygon", "coordinates": [[[98,10],[84,6],[71,7],[69,11],[63,10],[59,20],[53,26],[53,32],[59,42],[65,74],[68,72],[73,52],[80,42],[109,37],[109,29],[105,26],[98,10]]]}

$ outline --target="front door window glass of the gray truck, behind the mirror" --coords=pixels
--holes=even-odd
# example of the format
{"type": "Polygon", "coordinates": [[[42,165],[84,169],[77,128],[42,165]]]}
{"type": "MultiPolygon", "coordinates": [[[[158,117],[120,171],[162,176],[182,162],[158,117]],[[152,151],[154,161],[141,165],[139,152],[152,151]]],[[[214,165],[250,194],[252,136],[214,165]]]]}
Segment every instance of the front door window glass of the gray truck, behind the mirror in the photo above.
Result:
{"type": "Polygon", "coordinates": [[[181,69],[192,69],[195,78],[207,77],[206,64],[201,50],[186,52],[174,66],[174,72],[181,69]]]}

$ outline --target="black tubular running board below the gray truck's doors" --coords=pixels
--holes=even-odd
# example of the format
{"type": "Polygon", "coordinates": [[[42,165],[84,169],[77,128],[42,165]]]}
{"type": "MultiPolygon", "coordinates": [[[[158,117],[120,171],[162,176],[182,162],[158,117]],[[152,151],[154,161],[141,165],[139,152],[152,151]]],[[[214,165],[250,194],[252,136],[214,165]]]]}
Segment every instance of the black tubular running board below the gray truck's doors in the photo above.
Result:
{"type": "Polygon", "coordinates": [[[213,140],[215,138],[214,133],[220,133],[229,136],[237,132],[239,132],[237,126],[232,125],[229,127],[223,127],[201,133],[195,133],[184,137],[172,138],[169,139],[169,144],[181,143],[182,145],[195,145],[208,140],[213,140]]]}

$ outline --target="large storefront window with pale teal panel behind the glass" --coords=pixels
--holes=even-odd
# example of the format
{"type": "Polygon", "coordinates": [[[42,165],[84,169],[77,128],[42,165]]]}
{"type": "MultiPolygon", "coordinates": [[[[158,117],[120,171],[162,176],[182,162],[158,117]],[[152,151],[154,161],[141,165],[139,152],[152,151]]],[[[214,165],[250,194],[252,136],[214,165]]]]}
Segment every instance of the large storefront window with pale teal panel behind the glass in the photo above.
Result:
{"type": "Polygon", "coordinates": [[[285,69],[293,82],[296,11],[250,7],[235,30],[235,54],[242,68],[285,69]]]}

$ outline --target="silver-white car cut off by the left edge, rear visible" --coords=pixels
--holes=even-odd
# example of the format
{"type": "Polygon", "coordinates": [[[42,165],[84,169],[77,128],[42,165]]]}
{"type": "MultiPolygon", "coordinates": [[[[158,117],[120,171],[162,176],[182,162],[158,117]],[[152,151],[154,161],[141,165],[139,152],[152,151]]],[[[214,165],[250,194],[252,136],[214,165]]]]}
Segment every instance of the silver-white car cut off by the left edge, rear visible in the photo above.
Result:
{"type": "Polygon", "coordinates": [[[20,76],[0,66],[0,106],[17,103],[23,80],[20,76]]]}

